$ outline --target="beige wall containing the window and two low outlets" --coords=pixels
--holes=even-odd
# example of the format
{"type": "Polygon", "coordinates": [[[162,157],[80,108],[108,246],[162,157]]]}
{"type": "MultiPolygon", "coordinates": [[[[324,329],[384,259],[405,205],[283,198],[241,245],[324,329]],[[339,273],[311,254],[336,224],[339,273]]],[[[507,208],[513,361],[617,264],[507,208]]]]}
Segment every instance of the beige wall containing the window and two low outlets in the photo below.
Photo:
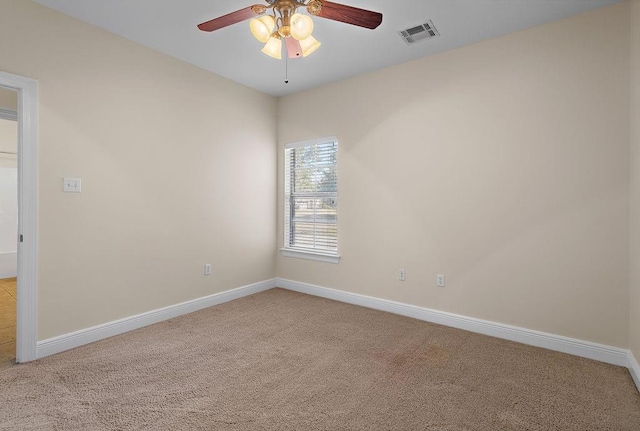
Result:
{"type": "Polygon", "coordinates": [[[342,260],[278,276],[626,348],[628,13],[281,99],[280,182],[285,143],[339,139],[342,260]]]}

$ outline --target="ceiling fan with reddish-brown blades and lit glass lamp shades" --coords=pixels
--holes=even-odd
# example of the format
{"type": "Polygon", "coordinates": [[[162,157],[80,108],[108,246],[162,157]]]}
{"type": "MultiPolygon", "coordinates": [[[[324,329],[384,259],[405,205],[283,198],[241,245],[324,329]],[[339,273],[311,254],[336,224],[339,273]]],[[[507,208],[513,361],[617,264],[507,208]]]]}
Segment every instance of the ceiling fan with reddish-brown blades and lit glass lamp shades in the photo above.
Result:
{"type": "Polygon", "coordinates": [[[382,14],[325,0],[265,0],[267,5],[255,4],[198,25],[202,31],[215,31],[253,18],[249,27],[260,42],[262,52],[270,57],[282,58],[284,39],[289,58],[307,57],[320,47],[311,33],[313,20],[298,12],[306,8],[310,15],[340,21],[368,29],[382,23],[382,14]],[[271,10],[270,13],[267,13],[271,10]],[[256,18],[260,16],[259,18],[256,18]]]}

